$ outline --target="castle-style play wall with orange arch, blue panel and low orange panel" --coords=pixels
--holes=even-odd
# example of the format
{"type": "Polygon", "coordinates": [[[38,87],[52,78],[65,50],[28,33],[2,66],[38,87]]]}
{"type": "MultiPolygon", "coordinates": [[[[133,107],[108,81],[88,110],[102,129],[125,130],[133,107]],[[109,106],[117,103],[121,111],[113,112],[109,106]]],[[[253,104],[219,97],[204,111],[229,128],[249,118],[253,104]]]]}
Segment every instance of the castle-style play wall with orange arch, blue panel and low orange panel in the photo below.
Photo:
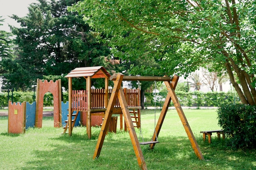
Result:
{"type": "Polygon", "coordinates": [[[29,127],[42,127],[43,121],[43,97],[51,92],[54,97],[54,127],[61,126],[61,80],[53,82],[37,79],[36,102],[8,104],[8,132],[25,133],[29,127]]]}

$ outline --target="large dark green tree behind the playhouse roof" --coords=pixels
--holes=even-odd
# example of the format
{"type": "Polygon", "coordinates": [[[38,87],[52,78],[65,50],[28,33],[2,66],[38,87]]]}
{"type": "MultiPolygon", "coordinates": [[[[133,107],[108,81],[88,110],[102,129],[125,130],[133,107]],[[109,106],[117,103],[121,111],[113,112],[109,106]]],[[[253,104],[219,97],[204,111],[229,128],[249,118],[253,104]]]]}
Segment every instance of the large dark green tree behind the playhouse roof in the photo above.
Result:
{"type": "MultiPolygon", "coordinates": [[[[96,40],[99,33],[85,24],[81,15],[67,11],[67,6],[75,2],[38,0],[29,5],[27,16],[11,17],[21,27],[11,26],[19,51],[14,61],[17,69],[4,76],[10,86],[26,90],[37,78],[65,76],[76,67],[101,65],[108,71],[116,69],[118,61],[110,55],[109,47],[96,40]]],[[[85,81],[77,81],[74,88],[85,88],[85,81]]],[[[101,85],[97,81],[92,83],[101,85]]]]}

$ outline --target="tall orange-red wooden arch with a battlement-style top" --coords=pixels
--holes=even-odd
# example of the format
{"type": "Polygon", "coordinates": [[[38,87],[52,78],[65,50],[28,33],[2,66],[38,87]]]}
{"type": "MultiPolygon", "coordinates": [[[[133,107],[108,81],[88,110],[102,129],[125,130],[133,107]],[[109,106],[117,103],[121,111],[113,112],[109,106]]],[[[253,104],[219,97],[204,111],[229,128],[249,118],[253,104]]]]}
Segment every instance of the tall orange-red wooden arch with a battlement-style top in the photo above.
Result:
{"type": "Polygon", "coordinates": [[[43,82],[41,79],[37,79],[35,127],[42,128],[43,99],[47,92],[53,95],[54,127],[61,127],[61,79],[56,80],[56,82],[52,80],[50,80],[50,82],[47,80],[43,82]]]}

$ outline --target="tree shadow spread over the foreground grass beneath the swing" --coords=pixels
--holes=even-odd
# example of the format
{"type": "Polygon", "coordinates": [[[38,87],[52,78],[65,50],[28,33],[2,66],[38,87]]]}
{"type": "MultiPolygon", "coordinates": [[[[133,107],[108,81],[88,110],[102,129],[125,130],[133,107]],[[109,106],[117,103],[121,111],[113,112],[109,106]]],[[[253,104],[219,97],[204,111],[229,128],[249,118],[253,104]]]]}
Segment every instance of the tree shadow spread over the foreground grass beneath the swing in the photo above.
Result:
{"type": "MultiPolygon", "coordinates": [[[[95,131],[95,130],[94,130],[95,131]]],[[[97,131],[97,130],[96,130],[97,131]]],[[[93,160],[97,135],[91,140],[85,132],[51,138],[53,142],[46,150],[38,148],[22,168],[76,169],[76,170],[139,170],[135,152],[126,132],[108,134],[99,158],[93,160]]],[[[191,147],[188,137],[159,137],[159,144],[153,150],[141,146],[148,169],[153,170],[254,170],[256,169],[255,150],[230,150],[218,139],[212,144],[197,139],[205,160],[199,160],[191,147]]]]}

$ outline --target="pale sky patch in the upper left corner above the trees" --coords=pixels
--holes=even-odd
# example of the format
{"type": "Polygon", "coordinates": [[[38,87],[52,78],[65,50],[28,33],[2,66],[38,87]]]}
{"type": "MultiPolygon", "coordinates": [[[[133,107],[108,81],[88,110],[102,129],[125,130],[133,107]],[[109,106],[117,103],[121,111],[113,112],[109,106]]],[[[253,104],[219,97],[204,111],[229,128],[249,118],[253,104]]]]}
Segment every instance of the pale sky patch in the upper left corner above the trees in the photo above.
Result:
{"type": "Polygon", "coordinates": [[[29,4],[38,2],[37,0],[0,0],[0,16],[2,16],[2,19],[5,19],[4,22],[1,22],[3,24],[0,26],[0,30],[8,31],[10,32],[9,26],[20,26],[19,23],[17,23],[15,20],[11,19],[9,16],[15,14],[18,15],[18,17],[24,17],[28,13],[27,7],[29,7],[29,4]]]}

